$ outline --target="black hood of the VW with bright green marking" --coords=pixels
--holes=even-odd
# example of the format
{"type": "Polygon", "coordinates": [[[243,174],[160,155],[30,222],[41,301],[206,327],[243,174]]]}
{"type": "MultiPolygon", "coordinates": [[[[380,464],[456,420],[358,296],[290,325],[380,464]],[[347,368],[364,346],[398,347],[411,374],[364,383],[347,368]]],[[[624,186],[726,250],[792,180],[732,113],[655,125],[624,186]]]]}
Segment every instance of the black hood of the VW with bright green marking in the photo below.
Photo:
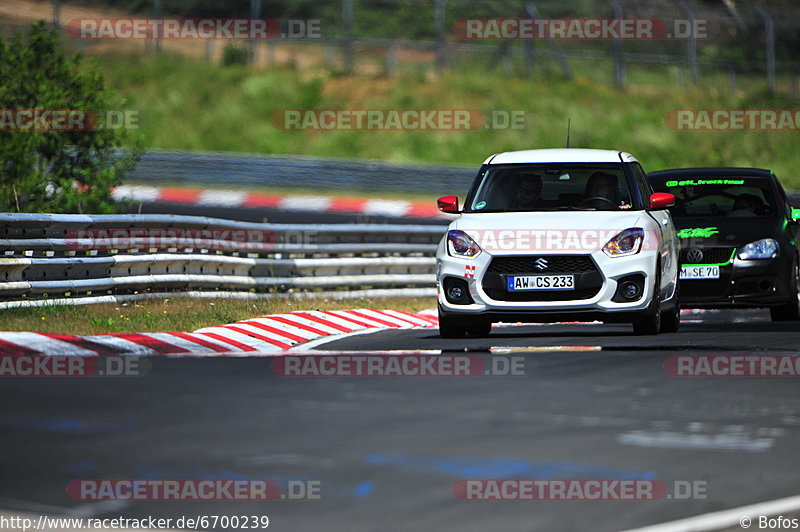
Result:
{"type": "Polygon", "coordinates": [[[762,238],[778,238],[778,218],[673,218],[683,247],[741,247],[762,238]]]}

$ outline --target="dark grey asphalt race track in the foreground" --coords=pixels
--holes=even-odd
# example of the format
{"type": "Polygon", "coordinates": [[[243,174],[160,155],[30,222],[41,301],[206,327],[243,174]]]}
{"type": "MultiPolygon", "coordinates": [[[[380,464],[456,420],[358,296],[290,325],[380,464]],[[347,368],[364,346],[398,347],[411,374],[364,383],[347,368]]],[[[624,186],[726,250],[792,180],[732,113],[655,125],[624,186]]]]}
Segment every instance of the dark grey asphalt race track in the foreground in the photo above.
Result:
{"type": "Polygon", "coordinates": [[[664,367],[674,355],[800,354],[797,324],[766,318],[686,315],[681,332],[655,337],[600,324],[447,341],[394,330],[319,347],[524,357],[518,376],[291,378],[268,358],[159,357],[141,377],[4,379],[0,508],[268,515],[270,529],[292,531],[602,531],[796,495],[796,378],[673,377],[664,367]],[[322,490],[303,501],[69,498],[67,484],[87,478],[311,480],[322,490]],[[470,478],[657,479],[668,496],[457,499],[454,484],[470,478]],[[677,500],[676,481],[705,493],[677,500]]]}

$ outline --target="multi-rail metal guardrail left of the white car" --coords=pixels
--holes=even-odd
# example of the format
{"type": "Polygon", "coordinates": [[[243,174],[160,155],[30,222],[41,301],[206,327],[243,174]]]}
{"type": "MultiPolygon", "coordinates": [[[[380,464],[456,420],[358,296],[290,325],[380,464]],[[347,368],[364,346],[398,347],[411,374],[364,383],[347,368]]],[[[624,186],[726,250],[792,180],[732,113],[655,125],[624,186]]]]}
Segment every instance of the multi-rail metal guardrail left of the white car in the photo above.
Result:
{"type": "Polygon", "coordinates": [[[434,293],[444,229],[168,215],[0,215],[0,308],[52,302],[434,293]]]}

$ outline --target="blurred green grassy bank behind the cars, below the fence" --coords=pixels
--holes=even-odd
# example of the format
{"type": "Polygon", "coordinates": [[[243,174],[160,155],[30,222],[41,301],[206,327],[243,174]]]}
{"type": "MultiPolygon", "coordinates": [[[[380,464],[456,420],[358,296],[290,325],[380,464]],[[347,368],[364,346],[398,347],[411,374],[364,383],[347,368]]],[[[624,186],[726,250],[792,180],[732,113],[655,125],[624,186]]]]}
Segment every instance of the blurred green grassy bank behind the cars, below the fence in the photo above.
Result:
{"type": "MultiPolygon", "coordinates": [[[[758,166],[773,169],[788,188],[800,189],[797,132],[686,132],[666,127],[664,116],[672,109],[798,107],[796,99],[770,96],[758,88],[762,84],[744,78],[732,94],[723,77],[713,86],[679,87],[674,73],[666,70],[632,74],[642,83],[623,91],[586,75],[569,82],[541,76],[523,79],[476,66],[439,77],[406,71],[387,79],[340,76],[322,69],[222,67],[168,55],[102,56],[100,61],[109,85],[130,108],[142,111],[141,133],[154,148],[477,167],[487,155],[500,151],[563,146],[571,119],[572,146],[629,151],[647,170],[758,166]],[[307,108],[522,110],[526,127],[319,132],[283,131],[271,122],[276,111],[307,108]]],[[[420,190],[414,192],[424,193],[424,179],[420,182],[420,190]]]]}

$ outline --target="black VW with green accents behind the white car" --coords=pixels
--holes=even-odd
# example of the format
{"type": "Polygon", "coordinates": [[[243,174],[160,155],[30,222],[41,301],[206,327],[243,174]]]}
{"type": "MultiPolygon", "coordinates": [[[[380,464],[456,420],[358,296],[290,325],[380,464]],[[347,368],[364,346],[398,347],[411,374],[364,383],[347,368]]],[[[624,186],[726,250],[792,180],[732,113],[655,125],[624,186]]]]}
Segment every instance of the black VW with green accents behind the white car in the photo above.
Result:
{"type": "Polygon", "coordinates": [[[768,307],[800,319],[800,209],[775,174],[756,168],[681,168],[648,174],[681,240],[684,308],[768,307]]]}

